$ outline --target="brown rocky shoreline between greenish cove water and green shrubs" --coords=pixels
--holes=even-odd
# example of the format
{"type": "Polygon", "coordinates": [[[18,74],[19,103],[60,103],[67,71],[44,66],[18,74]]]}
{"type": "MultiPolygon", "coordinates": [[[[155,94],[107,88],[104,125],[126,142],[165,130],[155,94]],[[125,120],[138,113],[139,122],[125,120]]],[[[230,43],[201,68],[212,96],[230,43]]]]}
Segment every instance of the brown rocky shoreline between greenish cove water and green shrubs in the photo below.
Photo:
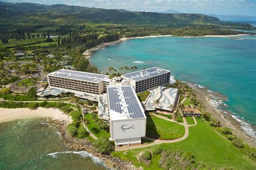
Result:
{"type": "Polygon", "coordinates": [[[98,157],[100,160],[103,160],[105,164],[111,169],[137,169],[132,165],[132,162],[124,161],[119,158],[113,158],[110,155],[105,155],[97,152],[93,147],[93,144],[88,141],[86,138],[78,139],[71,137],[66,131],[66,126],[69,122],[67,121],[59,121],[51,119],[51,123],[56,125],[56,128],[60,132],[63,140],[63,144],[70,148],[73,148],[76,151],[86,151],[93,156],[98,157]]]}

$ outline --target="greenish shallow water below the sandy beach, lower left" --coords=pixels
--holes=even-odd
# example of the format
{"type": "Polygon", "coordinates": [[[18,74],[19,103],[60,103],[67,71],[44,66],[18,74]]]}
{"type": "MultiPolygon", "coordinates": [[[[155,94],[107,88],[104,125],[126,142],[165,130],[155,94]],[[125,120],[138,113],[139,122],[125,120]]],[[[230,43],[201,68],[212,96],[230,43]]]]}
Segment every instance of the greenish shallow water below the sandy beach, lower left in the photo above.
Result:
{"type": "Polygon", "coordinates": [[[65,147],[47,119],[0,123],[0,169],[106,169],[87,152],[65,147]]]}

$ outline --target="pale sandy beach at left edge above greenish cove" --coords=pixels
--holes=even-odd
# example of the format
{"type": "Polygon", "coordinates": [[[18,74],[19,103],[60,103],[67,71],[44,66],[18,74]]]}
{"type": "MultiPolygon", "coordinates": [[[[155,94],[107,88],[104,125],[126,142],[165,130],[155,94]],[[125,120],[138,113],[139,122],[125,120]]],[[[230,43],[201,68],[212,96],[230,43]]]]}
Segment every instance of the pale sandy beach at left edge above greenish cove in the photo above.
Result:
{"type": "Polygon", "coordinates": [[[18,109],[0,108],[0,123],[13,121],[15,119],[28,119],[28,118],[36,118],[36,117],[51,117],[53,119],[66,120],[71,122],[71,117],[63,114],[63,112],[58,109],[38,108],[36,110],[30,110],[28,108],[18,108],[18,109]]]}

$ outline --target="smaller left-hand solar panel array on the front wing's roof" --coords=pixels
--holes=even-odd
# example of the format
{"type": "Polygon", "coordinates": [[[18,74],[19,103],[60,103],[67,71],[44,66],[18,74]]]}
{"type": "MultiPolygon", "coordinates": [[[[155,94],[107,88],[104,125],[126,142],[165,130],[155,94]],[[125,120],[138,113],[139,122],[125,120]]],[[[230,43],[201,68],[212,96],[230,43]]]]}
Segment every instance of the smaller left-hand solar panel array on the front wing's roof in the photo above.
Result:
{"type": "Polygon", "coordinates": [[[120,114],[122,114],[122,108],[121,108],[121,100],[117,93],[117,87],[108,87],[107,88],[107,95],[109,95],[109,107],[111,110],[114,110],[120,114]]]}

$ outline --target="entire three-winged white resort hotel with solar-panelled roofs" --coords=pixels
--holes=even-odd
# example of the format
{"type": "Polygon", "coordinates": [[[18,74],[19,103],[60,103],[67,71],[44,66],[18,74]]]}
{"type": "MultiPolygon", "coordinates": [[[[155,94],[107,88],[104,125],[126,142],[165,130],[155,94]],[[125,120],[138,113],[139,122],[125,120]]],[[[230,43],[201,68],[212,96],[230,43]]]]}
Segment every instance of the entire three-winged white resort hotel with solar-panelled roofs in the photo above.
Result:
{"type": "Polygon", "coordinates": [[[129,146],[140,144],[146,135],[145,112],[175,110],[178,90],[164,87],[173,82],[171,72],[159,67],[113,79],[109,75],[60,69],[48,74],[49,87],[39,90],[37,95],[73,93],[79,98],[98,102],[98,117],[110,125],[110,140],[114,140],[117,147],[129,146]],[[149,96],[145,101],[139,101],[136,93],[146,90],[149,90],[149,96]]]}

